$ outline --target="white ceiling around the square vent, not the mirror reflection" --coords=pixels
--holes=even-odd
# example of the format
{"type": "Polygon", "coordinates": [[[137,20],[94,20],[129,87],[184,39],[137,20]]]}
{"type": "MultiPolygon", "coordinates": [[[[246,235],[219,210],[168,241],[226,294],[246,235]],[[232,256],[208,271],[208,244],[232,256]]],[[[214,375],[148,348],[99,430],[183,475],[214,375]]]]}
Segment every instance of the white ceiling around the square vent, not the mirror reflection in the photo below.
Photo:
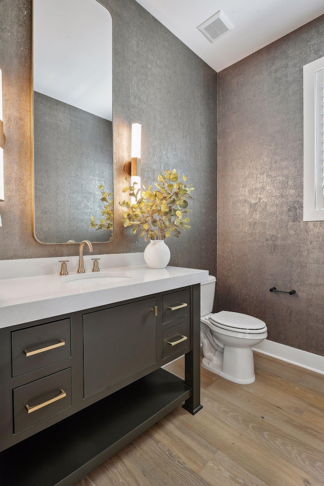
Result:
{"type": "Polygon", "coordinates": [[[323,0],[137,0],[215,71],[324,14],[323,0]],[[222,10],[234,24],[211,44],[197,26],[222,10]]]}

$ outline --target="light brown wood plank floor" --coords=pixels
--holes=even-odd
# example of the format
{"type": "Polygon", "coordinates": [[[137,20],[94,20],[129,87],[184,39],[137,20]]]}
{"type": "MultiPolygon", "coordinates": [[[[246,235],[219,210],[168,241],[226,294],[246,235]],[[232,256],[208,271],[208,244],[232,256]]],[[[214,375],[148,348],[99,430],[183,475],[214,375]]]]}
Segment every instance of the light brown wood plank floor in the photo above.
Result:
{"type": "MultiPolygon", "coordinates": [[[[183,378],[184,360],[167,367],[183,378]]],[[[255,353],[256,381],[201,368],[194,417],[179,407],[75,486],[323,486],[324,376],[255,353]]]]}

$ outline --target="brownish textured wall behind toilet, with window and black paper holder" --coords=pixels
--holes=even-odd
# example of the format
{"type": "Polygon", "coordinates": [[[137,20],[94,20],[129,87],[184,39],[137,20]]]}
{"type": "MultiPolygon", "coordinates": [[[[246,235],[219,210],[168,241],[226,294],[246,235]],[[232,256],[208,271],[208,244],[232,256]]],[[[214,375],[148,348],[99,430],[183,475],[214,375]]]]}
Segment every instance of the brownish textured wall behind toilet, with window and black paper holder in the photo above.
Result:
{"type": "Polygon", "coordinates": [[[217,309],[318,354],[324,222],[303,222],[303,65],[324,56],[323,39],[324,16],[218,74],[217,309]]]}

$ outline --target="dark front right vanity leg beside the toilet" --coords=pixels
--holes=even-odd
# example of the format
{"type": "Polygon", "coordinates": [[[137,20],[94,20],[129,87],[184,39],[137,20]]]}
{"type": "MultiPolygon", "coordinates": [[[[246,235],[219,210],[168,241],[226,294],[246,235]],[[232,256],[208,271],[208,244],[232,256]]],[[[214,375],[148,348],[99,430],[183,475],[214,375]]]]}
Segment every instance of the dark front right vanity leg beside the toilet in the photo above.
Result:
{"type": "Polygon", "coordinates": [[[191,287],[191,339],[192,350],[185,354],[185,384],[191,396],[183,405],[191,415],[203,408],[200,404],[200,284],[191,287]]]}

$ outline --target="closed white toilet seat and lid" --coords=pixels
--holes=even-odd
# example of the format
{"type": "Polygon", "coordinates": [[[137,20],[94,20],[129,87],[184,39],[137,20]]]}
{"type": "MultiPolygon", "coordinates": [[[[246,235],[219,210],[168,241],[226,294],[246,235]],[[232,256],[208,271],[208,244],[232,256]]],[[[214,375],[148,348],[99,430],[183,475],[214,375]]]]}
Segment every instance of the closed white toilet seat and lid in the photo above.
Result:
{"type": "Polygon", "coordinates": [[[263,320],[257,319],[252,315],[229,312],[227,310],[212,314],[210,322],[214,326],[233,331],[237,330],[238,332],[252,331],[261,333],[267,330],[263,320]]]}

